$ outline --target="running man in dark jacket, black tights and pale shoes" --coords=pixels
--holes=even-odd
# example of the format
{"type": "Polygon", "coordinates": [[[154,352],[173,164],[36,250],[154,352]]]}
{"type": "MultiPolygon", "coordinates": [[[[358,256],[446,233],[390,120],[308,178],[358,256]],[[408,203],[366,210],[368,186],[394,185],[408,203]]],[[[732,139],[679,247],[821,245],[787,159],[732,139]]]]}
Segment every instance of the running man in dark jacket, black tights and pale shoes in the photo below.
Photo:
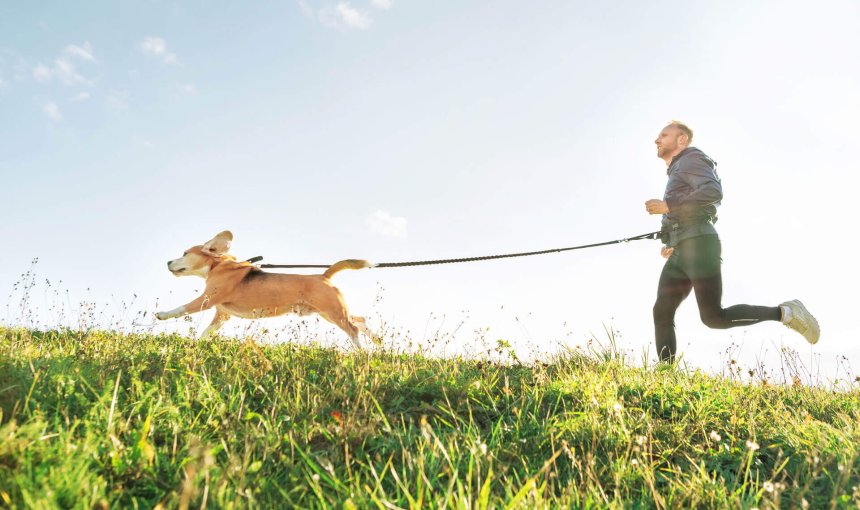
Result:
{"type": "Polygon", "coordinates": [[[693,131],[678,121],[669,123],[654,140],[657,157],[666,162],[669,177],[663,200],[645,202],[649,214],[663,215],[664,246],[660,254],[666,263],[654,303],[654,335],[660,360],[675,360],[675,311],[691,290],[696,292],[699,316],[709,328],[781,321],[809,343],[818,342],[818,321],[798,300],[779,306],[722,307],[721,245],[714,223],[723,189],[717,163],[690,147],[692,141],[693,131]]]}

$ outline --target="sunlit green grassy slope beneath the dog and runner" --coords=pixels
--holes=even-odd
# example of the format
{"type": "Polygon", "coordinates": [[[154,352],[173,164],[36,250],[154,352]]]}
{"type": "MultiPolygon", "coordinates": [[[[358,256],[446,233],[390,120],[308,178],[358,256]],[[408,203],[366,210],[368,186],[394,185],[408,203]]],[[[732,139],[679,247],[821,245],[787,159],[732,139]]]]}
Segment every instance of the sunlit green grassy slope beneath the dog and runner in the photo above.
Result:
{"type": "Polygon", "coordinates": [[[857,508],[860,393],[0,328],[0,506],[857,508]]]}

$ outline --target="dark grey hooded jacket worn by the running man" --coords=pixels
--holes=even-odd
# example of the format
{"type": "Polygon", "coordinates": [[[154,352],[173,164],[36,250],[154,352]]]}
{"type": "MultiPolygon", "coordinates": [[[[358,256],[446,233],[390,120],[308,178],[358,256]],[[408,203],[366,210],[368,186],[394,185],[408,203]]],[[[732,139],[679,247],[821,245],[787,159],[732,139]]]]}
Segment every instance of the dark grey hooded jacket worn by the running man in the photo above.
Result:
{"type": "Polygon", "coordinates": [[[663,201],[669,212],[663,215],[663,241],[675,246],[684,239],[716,235],[717,206],[723,187],[717,176],[717,163],[695,147],[687,147],[672,159],[663,201]]]}

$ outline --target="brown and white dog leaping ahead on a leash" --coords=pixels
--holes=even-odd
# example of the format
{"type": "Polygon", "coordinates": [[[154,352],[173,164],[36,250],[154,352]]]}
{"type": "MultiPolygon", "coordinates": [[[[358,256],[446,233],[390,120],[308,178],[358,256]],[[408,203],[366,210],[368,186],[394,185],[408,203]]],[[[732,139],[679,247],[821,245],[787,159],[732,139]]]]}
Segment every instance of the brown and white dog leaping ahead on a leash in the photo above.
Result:
{"type": "Polygon", "coordinates": [[[215,318],[203,332],[205,337],[216,333],[234,315],[257,319],[286,313],[318,313],[344,330],[356,348],[362,348],[359,331],[373,337],[363,317],[349,314],[343,296],[329,280],[343,269],[362,269],[373,264],[366,260],[341,260],[323,274],[267,273],[227,255],[232,240],[233,234],[225,230],[167,263],[167,269],[176,276],[203,278],[206,289],[194,301],[167,312],[158,312],[156,318],[172,319],[215,307],[215,318]]]}

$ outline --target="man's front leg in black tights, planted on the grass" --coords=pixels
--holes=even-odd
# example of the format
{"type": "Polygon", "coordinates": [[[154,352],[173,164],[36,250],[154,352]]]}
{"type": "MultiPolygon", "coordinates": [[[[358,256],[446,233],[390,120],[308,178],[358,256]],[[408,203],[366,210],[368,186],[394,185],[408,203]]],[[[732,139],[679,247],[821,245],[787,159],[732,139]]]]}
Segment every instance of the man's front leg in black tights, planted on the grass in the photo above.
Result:
{"type": "Polygon", "coordinates": [[[670,257],[660,273],[657,301],[654,303],[654,339],[660,361],[675,360],[675,311],[690,295],[692,288],[690,279],[675,265],[673,257],[670,257]]]}

